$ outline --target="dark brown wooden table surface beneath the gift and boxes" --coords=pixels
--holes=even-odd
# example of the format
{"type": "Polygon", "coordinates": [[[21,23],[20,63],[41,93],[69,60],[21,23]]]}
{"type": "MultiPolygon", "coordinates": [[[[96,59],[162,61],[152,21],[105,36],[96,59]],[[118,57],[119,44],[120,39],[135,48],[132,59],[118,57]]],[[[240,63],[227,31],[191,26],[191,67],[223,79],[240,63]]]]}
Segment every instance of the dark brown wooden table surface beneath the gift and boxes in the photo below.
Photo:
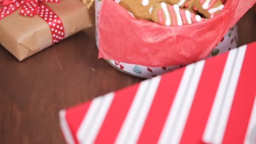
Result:
{"type": "MultiPolygon", "coordinates": [[[[141,79],[97,59],[93,29],[19,62],[0,46],[0,144],[63,144],[59,110],[141,79]]],[[[239,45],[256,41],[256,13],[239,21],[239,45]]]]}

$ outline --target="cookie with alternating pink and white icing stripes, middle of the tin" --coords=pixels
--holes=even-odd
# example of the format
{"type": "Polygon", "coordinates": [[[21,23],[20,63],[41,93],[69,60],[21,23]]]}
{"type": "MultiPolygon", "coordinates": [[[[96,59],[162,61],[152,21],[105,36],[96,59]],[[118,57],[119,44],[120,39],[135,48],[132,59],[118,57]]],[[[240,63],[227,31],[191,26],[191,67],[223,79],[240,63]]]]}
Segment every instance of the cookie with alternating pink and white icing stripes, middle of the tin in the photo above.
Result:
{"type": "Polygon", "coordinates": [[[179,8],[179,5],[157,3],[152,9],[152,20],[165,26],[182,26],[204,21],[201,16],[188,10],[179,8]]]}

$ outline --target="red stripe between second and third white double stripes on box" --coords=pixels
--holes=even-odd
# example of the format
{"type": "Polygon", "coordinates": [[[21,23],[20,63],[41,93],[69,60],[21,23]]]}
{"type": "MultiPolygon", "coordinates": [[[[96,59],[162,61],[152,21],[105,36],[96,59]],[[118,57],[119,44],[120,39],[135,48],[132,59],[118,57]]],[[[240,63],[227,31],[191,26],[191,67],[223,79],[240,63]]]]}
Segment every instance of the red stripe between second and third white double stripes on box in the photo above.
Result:
{"type": "Polygon", "coordinates": [[[184,68],[162,76],[138,144],[157,143],[183,73],[184,68]]]}

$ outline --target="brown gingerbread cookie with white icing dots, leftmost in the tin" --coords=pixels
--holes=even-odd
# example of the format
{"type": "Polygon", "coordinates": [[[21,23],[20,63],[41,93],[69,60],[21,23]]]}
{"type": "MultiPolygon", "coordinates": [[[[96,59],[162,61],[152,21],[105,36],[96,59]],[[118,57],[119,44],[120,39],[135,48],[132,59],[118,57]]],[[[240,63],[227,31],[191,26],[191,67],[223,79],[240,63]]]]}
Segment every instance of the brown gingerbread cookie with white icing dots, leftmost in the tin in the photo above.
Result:
{"type": "Polygon", "coordinates": [[[151,11],[153,5],[161,2],[168,3],[169,0],[115,0],[116,3],[132,13],[136,19],[152,21],[151,11]]]}

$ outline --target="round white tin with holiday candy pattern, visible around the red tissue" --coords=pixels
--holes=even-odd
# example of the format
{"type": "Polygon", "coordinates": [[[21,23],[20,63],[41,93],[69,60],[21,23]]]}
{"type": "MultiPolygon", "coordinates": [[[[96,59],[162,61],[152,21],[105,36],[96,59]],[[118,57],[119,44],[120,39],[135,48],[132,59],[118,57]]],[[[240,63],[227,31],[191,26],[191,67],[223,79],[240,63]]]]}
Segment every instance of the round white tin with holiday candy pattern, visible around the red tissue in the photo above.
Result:
{"type": "MultiPolygon", "coordinates": [[[[99,19],[99,9],[100,9],[101,1],[95,0],[95,23],[96,23],[96,45],[99,47],[99,31],[98,31],[98,19],[99,19]]],[[[235,24],[232,28],[229,29],[224,37],[222,37],[221,41],[216,45],[215,48],[211,51],[207,58],[219,55],[226,51],[230,51],[233,48],[237,47],[238,44],[238,25],[235,24]]],[[[171,72],[180,67],[184,67],[184,65],[175,65],[168,67],[146,67],[137,64],[127,64],[120,61],[115,60],[106,60],[109,64],[111,64],[116,69],[124,72],[128,75],[132,75],[134,77],[139,78],[151,78],[157,75],[162,75],[166,72],[171,72]]]]}

